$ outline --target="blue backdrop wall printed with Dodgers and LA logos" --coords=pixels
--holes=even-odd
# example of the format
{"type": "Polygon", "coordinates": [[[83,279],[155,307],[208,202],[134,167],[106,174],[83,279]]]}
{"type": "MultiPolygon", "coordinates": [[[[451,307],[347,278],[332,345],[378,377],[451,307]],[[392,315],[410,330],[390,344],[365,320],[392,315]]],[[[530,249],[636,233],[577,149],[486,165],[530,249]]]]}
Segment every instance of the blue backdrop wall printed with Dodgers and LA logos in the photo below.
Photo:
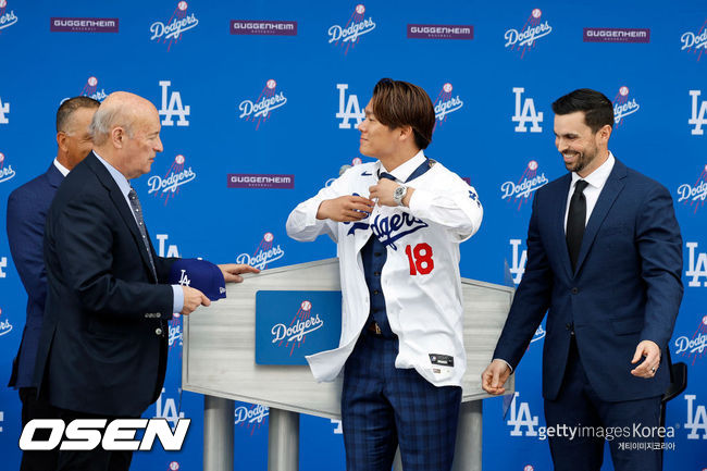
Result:
{"type": "MultiPolygon", "coordinates": [[[[533,191],[566,172],[550,103],[574,88],[601,90],[619,117],[610,149],[675,201],[685,296],[670,349],[690,381],[668,407],[666,469],[703,470],[706,25],[704,1],[0,0],[0,213],[55,156],[62,99],[129,90],[163,119],[164,152],[135,185],[161,255],[260,268],[333,257],[328,239],[288,239],[285,220],[342,165],[367,160],[356,125],[389,76],[427,90],[438,116],[427,154],[470,178],[484,204],[481,231],[461,248],[462,275],[518,283],[533,191]]],[[[4,382],[26,296],[0,221],[4,382]]],[[[539,433],[543,336],[520,365],[508,414],[500,398],[484,402],[484,469],[550,469],[539,433]]],[[[146,417],[194,422],[181,453],[137,453],[136,470],[201,469],[202,398],[179,389],[178,319],[170,342],[164,392],[146,417]]],[[[265,470],[268,409],[237,406],[235,468],[265,470]]],[[[339,424],[305,417],[301,427],[301,469],[343,470],[339,424]]],[[[20,432],[16,392],[0,388],[2,469],[18,466],[20,432]]]]}

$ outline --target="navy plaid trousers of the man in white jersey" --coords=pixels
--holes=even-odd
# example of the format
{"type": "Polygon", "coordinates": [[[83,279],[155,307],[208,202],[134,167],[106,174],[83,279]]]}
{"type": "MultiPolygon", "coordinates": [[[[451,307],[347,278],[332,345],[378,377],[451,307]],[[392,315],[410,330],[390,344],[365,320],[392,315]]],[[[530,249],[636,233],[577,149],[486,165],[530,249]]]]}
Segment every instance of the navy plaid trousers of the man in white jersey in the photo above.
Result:
{"type": "Polygon", "coordinates": [[[449,471],[461,387],[437,387],[414,369],[396,369],[398,339],[363,331],[346,361],[342,426],[347,471],[449,471]]]}

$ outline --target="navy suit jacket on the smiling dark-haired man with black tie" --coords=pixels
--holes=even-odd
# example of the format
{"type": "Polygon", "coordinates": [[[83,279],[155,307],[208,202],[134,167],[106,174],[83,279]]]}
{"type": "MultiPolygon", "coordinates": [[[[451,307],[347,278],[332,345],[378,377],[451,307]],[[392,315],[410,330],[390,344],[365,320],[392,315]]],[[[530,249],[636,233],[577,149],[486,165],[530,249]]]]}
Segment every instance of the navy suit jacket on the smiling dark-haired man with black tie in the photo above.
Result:
{"type": "Polygon", "coordinates": [[[616,161],[587,222],[572,273],[565,239],[567,174],[538,189],[528,230],[528,263],[494,358],[518,365],[547,314],[543,396],[562,383],[573,325],[582,365],[607,401],[660,396],[666,355],[655,377],[633,376],[641,340],[667,348],[682,299],[682,239],[670,193],[616,161]]]}

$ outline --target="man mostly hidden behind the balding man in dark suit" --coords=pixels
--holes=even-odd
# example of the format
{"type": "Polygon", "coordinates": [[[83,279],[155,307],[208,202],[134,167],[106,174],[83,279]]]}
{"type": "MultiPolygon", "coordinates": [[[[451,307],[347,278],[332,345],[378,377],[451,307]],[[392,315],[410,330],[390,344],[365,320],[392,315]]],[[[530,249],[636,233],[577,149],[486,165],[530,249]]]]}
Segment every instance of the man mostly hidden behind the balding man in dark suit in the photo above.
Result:
{"type": "MultiPolygon", "coordinates": [[[[42,257],[45,221],[57,188],[91,149],[88,126],[100,103],[92,98],[75,97],[57,111],[57,157],[49,170],[22,185],[8,198],[8,241],[22,284],[27,292],[27,317],[17,356],[12,363],[9,387],[20,391],[22,425],[33,419],[50,419],[55,411],[47,401],[37,400],[33,380],[47,298],[47,271],[42,257]]],[[[45,471],[57,464],[55,451],[25,451],[21,471],[45,471]]]]}

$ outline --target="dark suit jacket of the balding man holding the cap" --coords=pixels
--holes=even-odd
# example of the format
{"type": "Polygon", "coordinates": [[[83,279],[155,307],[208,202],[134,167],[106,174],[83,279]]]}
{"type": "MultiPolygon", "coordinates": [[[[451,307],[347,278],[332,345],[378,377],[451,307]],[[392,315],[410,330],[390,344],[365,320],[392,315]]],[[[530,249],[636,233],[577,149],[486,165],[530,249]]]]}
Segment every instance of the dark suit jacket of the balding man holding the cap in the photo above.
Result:
{"type": "Polygon", "coordinates": [[[35,375],[59,408],[141,414],[162,389],[174,259],[149,265],[117,184],[91,152],[59,187],[47,215],[49,292],[35,375]]]}

